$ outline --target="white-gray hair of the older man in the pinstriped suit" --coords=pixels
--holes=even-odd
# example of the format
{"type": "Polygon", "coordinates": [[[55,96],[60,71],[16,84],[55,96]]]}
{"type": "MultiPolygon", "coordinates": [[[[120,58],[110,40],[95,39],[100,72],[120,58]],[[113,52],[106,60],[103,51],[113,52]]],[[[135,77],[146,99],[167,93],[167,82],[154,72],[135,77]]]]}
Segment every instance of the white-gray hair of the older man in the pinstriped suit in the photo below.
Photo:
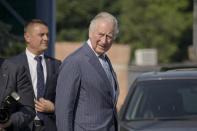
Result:
{"type": "Polygon", "coordinates": [[[101,19],[109,19],[109,20],[111,20],[114,23],[114,32],[113,32],[114,37],[113,37],[113,39],[115,40],[116,37],[118,36],[118,33],[119,33],[118,21],[113,15],[111,15],[108,12],[101,12],[101,13],[97,14],[91,20],[89,29],[93,32],[95,30],[96,26],[97,26],[98,20],[101,20],[101,19]]]}

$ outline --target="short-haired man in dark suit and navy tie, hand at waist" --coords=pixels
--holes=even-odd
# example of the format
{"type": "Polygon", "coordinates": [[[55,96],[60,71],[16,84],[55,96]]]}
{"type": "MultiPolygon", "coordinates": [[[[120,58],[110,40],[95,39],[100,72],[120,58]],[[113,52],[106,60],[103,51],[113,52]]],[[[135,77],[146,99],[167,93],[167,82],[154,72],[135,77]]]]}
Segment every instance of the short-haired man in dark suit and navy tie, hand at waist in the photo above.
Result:
{"type": "Polygon", "coordinates": [[[61,61],[44,55],[48,49],[49,30],[44,21],[32,20],[24,28],[26,50],[10,58],[26,67],[35,94],[34,131],[56,131],[55,94],[61,61]]]}

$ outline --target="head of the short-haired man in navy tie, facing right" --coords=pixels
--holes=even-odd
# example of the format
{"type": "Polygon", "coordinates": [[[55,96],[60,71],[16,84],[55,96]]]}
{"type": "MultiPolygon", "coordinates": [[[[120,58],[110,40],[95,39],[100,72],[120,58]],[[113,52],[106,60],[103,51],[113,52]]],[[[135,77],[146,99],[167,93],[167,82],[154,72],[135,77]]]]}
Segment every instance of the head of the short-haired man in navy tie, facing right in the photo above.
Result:
{"type": "Polygon", "coordinates": [[[33,54],[40,55],[48,49],[49,30],[47,26],[39,23],[33,24],[27,29],[24,37],[27,49],[33,54]]]}

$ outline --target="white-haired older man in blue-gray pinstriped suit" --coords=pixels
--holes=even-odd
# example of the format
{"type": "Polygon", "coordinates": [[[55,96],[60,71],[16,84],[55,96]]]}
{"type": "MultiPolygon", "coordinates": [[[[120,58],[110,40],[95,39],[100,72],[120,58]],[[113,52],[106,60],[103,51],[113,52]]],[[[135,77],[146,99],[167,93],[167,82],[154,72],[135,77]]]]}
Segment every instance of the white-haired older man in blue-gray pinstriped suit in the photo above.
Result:
{"type": "Polygon", "coordinates": [[[118,34],[117,20],[98,14],[90,23],[89,40],[68,56],[58,76],[58,131],[117,131],[118,82],[105,54],[118,34]]]}

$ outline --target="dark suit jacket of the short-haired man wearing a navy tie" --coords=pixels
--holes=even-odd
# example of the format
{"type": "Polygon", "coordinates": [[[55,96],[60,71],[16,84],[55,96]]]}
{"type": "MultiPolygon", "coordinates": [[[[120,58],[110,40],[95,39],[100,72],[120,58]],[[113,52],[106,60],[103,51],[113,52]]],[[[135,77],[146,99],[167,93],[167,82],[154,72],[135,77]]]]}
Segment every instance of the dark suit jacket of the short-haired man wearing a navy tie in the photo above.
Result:
{"type": "MultiPolygon", "coordinates": [[[[47,67],[47,80],[46,80],[46,85],[45,85],[44,98],[55,103],[57,75],[58,75],[58,70],[59,70],[59,66],[61,64],[61,61],[56,60],[56,59],[51,58],[46,55],[44,56],[44,58],[45,58],[46,67],[47,67]]],[[[26,56],[25,52],[23,52],[17,56],[14,56],[10,59],[16,63],[20,63],[20,64],[24,65],[26,67],[26,69],[28,70],[29,78],[31,79],[27,56],[26,56]]],[[[55,125],[54,113],[53,114],[52,113],[45,113],[44,114],[44,124],[46,127],[46,131],[56,131],[57,130],[56,125],[55,125]]]]}

